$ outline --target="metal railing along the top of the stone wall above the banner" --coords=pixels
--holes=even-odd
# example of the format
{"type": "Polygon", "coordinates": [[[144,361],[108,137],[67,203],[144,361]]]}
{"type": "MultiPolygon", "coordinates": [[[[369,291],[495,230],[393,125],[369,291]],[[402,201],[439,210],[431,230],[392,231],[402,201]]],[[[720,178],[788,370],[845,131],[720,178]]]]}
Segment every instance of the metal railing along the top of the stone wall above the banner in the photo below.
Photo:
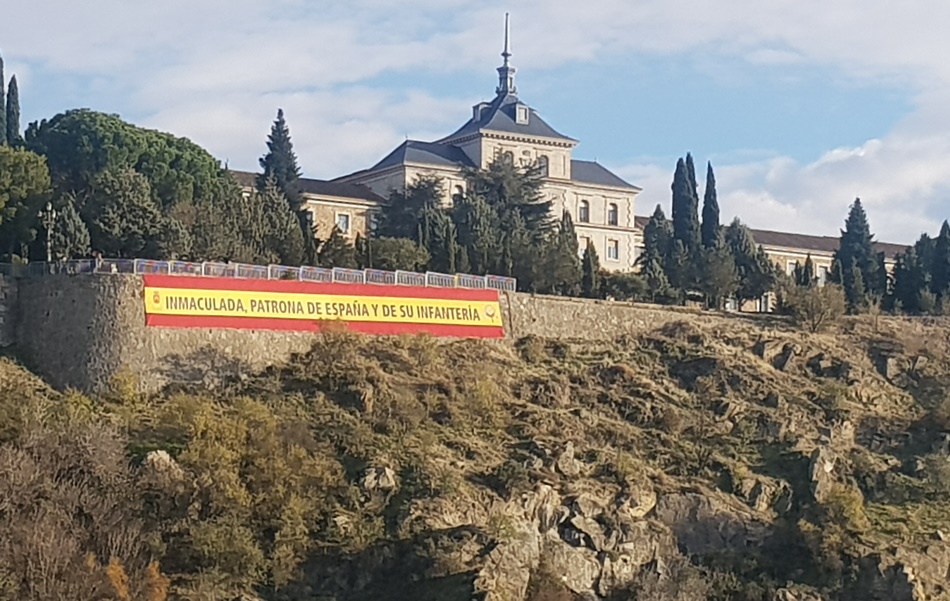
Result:
{"type": "Polygon", "coordinates": [[[289,267],[287,265],[249,265],[246,263],[194,263],[190,261],[153,261],[150,259],[81,259],[59,263],[0,263],[0,275],[41,277],[56,274],[165,274],[255,280],[299,280],[345,284],[388,286],[428,286],[436,288],[492,288],[514,292],[517,280],[497,275],[467,273],[416,273],[379,269],[343,269],[334,267],[289,267]]]}

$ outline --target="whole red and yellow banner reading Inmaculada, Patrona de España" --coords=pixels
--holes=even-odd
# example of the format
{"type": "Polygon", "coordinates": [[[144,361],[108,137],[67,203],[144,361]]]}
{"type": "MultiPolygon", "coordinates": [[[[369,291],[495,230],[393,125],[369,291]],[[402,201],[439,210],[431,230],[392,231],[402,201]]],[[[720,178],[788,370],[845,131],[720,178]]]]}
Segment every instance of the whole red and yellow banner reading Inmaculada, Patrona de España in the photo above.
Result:
{"type": "Polygon", "coordinates": [[[146,325],[501,338],[498,291],[145,275],[146,325]]]}

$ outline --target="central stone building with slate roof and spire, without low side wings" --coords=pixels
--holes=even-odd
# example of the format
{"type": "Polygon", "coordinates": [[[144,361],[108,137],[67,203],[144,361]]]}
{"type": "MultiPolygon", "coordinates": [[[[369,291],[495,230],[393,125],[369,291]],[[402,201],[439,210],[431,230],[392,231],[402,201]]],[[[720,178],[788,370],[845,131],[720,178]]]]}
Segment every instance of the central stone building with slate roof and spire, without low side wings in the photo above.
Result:
{"type": "Polygon", "coordinates": [[[597,162],[575,159],[578,141],[555,130],[518,97],[507,24],[501,56],[494,100],[474,105],[471,117],[455,132],[433,142],[407,140],[372,167],[333,182],[366,186],[388,197],[421,175],[438,176],[449,206],[465,191],[465,168],[484,169],[498,159],[537,165],[545,175],[542,193],[552,201],[553,216],[571,213],[581,249],[590,240],[604,268],[632,270],[640,239],[634,219],[640,188],[597,162]]]}

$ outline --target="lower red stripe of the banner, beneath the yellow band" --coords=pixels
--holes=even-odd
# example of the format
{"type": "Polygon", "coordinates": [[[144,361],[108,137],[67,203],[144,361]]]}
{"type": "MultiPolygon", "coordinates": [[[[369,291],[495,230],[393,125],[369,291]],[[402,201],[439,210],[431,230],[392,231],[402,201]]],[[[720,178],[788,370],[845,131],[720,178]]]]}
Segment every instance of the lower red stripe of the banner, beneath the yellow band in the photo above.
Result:
{"type": "Polygon", "coordinates": [[[423,323],[390,322],[343,322],[343,321],[306,321],[299,319],[275,319],[267,317],[221,317],[198,315],[156,315],[145,316],[148,326],[170,328],[230,328],[242,330],[281,330],[296,332],[319,332],[326,324],[341,324],[351,332],[362,334],[394,335],[422,334],[449,336],[457,338],[504,338],[505,329],[495,326],[467,326],[423,323]]]}

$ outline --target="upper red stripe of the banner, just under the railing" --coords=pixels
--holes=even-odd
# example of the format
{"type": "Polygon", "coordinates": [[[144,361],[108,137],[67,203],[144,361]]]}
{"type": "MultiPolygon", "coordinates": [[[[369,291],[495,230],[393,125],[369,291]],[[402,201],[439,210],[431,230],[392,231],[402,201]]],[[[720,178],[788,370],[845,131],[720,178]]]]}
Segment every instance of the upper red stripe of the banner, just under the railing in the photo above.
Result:
{"type": "Polygon", "coordinates": [[[444,298],[448,300],[497,301],[493,288],[437,288],[386,284],[340,284],[301,282],[298,280],[256,280],[208,278],[185,275],[142,276],[146,288],[186,290],[244,290],[251,292],[290,292],[297,294],[339,294],[348,296],[391,296],[397,298],[444,298]]]}

